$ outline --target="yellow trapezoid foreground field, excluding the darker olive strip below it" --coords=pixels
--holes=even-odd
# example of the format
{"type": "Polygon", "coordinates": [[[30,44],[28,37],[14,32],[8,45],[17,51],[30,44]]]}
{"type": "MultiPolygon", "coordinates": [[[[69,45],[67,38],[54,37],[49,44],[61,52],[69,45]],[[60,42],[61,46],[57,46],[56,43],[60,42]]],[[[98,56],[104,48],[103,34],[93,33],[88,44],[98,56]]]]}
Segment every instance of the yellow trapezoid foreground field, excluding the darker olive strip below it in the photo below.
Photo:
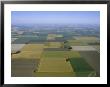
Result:
{"type": "Polygon", "coordinates": [[[73,72],[69,62],[62,58],[41,59],[38,72],[73,72]]]}

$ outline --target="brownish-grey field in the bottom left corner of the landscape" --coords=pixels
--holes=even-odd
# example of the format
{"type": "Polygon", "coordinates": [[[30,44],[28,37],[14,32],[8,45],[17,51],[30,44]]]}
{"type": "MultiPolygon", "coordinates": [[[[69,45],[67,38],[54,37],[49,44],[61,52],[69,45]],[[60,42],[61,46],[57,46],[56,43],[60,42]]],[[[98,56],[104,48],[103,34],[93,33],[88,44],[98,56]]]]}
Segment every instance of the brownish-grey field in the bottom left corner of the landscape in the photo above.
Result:
{"type": "Polygon", "coordinates": [[[36,59],[12,59],[12,77],[32,77],[34,70],[38,69],[39,60],[36,59]]]}

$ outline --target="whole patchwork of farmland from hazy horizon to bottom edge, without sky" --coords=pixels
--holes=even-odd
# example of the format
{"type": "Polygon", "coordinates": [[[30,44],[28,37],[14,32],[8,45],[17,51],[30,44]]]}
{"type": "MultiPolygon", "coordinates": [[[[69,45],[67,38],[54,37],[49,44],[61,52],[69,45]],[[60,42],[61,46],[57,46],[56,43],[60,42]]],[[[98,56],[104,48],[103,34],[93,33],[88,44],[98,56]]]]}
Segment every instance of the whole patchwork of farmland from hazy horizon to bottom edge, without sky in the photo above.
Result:
{"type": "Polygon", "coordinates": [[[11,76],[100,76],[99,30],[92,25],[12,26],[11,76]]]}

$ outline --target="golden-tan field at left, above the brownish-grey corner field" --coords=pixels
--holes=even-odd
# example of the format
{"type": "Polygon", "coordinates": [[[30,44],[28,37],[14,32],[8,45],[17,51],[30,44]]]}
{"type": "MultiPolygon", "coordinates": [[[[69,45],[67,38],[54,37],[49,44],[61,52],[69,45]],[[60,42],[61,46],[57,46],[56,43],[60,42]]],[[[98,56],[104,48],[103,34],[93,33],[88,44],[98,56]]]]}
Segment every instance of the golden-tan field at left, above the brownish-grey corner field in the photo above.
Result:
{"type": "Polygon", "coordinates": [[[43,44],[27,44],[18,54],[13,54],[12,58],[36,58],[39,59],[41,57],[43,51],[43,44]]]}

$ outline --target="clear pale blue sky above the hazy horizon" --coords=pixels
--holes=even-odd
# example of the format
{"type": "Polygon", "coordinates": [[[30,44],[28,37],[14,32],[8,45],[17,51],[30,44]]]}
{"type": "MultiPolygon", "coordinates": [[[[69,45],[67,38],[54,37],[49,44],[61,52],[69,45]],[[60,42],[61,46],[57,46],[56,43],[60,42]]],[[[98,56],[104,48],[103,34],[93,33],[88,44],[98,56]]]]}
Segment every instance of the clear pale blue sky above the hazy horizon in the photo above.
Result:
{"type": "Polygon", "coordinates": [[[100,12],[12,11],[11,24],[100,24],[100,12]]]}

